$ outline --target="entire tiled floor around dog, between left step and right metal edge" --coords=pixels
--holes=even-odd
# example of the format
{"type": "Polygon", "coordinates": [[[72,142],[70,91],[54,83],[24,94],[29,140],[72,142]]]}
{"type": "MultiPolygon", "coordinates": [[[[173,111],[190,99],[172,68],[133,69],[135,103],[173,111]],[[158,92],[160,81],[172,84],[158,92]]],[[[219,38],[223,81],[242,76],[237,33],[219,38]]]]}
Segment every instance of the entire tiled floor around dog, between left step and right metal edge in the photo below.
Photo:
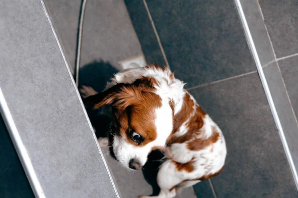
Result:
{"type": "MultiPolygon", "coordinates": [[[[228,156],[224,172],[211,182],[196,185],[196,195],[206,198],[213,198],[215,194],[218,198],[297,198],[284,149],[233,0],[147,0],[146,4],[143,0],[124,1],[128,12],[123,1],[87,2],[80,82],[101,91],[107,79],[119,69],[118,62],[139,55],[142,50],[149,63],[164,65],[167,60],[176,77],[185,81],[187,88],[192,88],[190,93],[218,122],[226,137],[228,156]]],[[[73,65],[80,2],[64,0],[47,4],[68,61],[73,65]]],[[[266,14],[264,16],[266,18],[266,14]]],[[[272,30],[276,31],[278,28],[273,26],[272,22],[272,30]]],[[[294,35],[296,31],[292,27],[295,24],[289,29],[294,35]]],[[[288,50],[292,42],[282,45],[279,38],[276,36],[273,45],[288,50]]],[[[277,54],[283,56],[285,51],[280,50],[277,54]]],[[[289,49],[287,53],[292,52],[294,50],[289,49]]],[[[264,56],[262,63],[268,63],[272,57],[264,56]]],[[[297,76],[295,63],[295,58],[279,62],[283,77],[289,78],[285,84],[292,100],[297,98],[296,81],[293,80],[297,76]]],[[[298,105],[296,100],[292,104],[298,105]]],[[[132,174],[114,160],[107,159],[123,198],[151,193],[141,173],[132,174]]],[[[183,198],[193,195],[191,189],[184,193],[183,198]]]]}

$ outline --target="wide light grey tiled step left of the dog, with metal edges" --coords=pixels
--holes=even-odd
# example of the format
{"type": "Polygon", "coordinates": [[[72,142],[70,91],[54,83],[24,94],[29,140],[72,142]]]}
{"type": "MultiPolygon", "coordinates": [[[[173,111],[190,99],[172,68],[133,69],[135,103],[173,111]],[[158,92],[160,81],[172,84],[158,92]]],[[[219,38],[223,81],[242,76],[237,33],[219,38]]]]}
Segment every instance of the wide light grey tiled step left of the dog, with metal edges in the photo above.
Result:
{"type": "Polygon", "coordinates": [[[1,5],[1,113],[35,196],[119,198],[43,1],[1,5]]]}

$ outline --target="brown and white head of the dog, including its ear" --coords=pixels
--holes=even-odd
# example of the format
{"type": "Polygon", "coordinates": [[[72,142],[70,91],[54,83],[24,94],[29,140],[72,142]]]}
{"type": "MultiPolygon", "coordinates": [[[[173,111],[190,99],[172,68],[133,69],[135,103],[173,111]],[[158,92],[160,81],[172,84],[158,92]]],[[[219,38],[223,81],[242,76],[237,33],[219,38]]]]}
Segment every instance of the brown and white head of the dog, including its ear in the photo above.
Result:
{"type": "Polygon", "coordinates": [[[172,102],[156,94],[151,80],[120,83],[84,101],[93,108],[112,107],[110,153],[132,169],[141,169],[151,150],[163,148],[173,129],[172,102]]]}

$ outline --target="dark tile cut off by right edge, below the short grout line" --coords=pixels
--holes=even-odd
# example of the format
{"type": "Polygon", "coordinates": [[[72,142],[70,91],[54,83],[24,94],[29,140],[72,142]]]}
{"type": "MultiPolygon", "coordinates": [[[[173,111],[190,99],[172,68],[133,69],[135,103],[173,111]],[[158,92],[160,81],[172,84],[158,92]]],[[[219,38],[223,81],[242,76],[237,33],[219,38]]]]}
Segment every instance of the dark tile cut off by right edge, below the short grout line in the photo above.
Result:
{"type": "Polygon", "coordinates": [[[284,82],[296,116],[298,116],[298,56],[279,61],[284,82]]]}

